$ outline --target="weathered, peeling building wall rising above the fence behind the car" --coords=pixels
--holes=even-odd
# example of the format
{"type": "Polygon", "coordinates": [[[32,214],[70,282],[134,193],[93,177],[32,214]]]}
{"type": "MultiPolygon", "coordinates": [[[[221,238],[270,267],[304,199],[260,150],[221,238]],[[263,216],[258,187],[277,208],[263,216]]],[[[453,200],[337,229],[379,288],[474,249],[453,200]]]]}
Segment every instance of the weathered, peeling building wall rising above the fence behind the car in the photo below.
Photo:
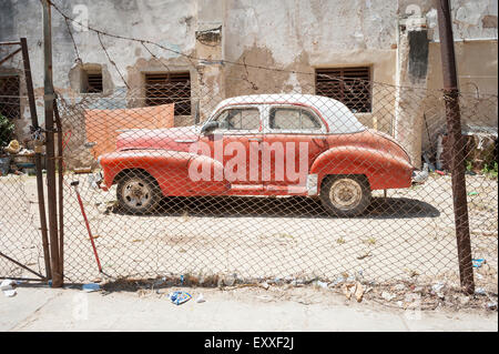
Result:
{"type": "MultiPolygon", "coordinates": [[[[397,87],[442,88],[431,0],[71,0],[54,4],[78,21],[65,21],[52,10],[54,87],[70,100],[95,93],[89,84],[102,95],[128,90],[146,98],[147,82],[172,74],[191,90],[190,107],[175,111],[175,124],[182,125],[204,119],[214,99],[320,93],[320,72],[353,75],[394,87],[391,101],[386,93],[381,100],[376,87],[367,93],[365,109],[357,111],[364,124],[405,142],[417,164],[421,146],[428,144],[422,112],[404,110],[408,103],[428,104],[426,98],[414,102],[413,94],[397,87]],[[85,26],[161,47],[98,36],[85,26]],[[386,117],[387,110],[394,114],[386,117]]],[[[497,94],[497,1],[452,0],[451,8],[460,89],[497,94]]],[[[28,38],[38,94],[43,92],[41,13],[39,1],[0,4],[0,41],[28,38]]],[[[22,71],[13,61],[0,67],[3,78],[17,74],[22,71]]],[[[23,95],[23,80],[19,82],[23,95]]],[[[19,134],[28,133],[24,103],[19,134]]],[[[489,124],[497,127],[497,112],[489,124]]]]}

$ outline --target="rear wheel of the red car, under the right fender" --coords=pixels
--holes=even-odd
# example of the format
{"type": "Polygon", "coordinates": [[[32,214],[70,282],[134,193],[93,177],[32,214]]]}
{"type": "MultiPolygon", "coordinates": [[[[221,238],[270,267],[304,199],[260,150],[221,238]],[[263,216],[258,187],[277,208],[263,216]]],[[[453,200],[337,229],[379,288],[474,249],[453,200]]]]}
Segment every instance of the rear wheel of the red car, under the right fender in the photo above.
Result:
{"type": "Polygon", "coordinates": [[[364,175],[332,175],[320,188],[320,202],[333,215],[350,218],[370,204],[370,188],[364,175]]]}

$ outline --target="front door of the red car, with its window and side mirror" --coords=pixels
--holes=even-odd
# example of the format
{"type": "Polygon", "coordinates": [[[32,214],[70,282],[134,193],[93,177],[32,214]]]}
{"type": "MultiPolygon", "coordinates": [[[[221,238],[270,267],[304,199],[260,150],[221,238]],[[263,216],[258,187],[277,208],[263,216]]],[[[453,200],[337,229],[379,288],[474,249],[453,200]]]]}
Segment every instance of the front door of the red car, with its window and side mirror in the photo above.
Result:
{"type": "Polygon", "coordinates": [[[235,194],[263,191],[261,109],[259,105],[223,109],[213,119],[218,122],[218,128],[205,138],[212,146],[212,158],[223,161],[224,179],[231,183],[235,194]]]}

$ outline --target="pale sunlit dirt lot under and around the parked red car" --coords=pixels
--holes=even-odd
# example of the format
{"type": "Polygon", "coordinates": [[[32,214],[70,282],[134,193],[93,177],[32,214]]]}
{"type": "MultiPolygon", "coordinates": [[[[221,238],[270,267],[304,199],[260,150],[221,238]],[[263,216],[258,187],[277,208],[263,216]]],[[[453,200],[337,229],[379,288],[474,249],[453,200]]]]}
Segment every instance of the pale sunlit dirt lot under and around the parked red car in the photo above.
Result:
{"type": "MultiPolygon", "coordinates": [[[[77,179],[103,270],[112,277],[459,284],[448,175],[390,190],[386,199],[376,192],[368,212],[354,219],[330,218],[317,201],[305,198],[176,198],[166,199],[153,215],[128,215],[116,210],[114,189],[93,190],[88,175],[68,175],[64,259],[70,282],[99,276],[69,186],[77,179]]],[[[475,269],[476,283],[497,296],[497,180],[468,175],[467,184],[472,256],[486,260],[475,269]]],[[[2,252],[41,270],[35,179],[2,178],[0,193],[2,252]]],[[[22,275],[8,261],[0,261],[0,267],[7,275],[22,275]]]]}

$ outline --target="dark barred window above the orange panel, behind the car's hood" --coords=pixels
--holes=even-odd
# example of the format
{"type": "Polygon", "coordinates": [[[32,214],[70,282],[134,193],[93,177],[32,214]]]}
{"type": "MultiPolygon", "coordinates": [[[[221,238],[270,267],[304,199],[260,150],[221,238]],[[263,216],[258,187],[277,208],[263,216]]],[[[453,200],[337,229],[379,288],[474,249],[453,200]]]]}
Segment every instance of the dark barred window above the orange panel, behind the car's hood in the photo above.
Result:
{"type": "Polygon", "coordinates": [[[175,103],[175,115],[191,115],[191,74],[189,72],[145,74],[145,104],[175,103]]]}

